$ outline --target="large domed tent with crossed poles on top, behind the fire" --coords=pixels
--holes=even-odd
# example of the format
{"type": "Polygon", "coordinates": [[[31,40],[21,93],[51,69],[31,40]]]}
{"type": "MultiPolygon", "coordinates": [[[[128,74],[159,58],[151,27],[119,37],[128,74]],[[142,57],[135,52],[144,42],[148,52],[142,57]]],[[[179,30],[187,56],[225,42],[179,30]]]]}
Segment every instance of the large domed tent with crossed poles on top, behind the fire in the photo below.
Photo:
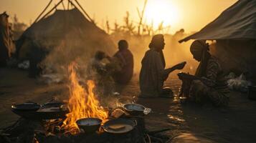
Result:
{"type": "MultiPolygon", "coordinates": [[[[110,36],[96,26],[82,8],[80,9],[84,11],[84,14],[78,9],[78,6],[69,2],[75,8],[56,9],[57,5],[62,3],[60,1],[44,16],[40,14],[39,16],[42,18],[36,20],[24,31],[24,34],[16,42],[16,56],[19,59],[29,59],[30,62],[38,64],[52,52],[55,52],[56,58],[59,57],[60,60],[67,62],[81,56],[87,61],[87,58],[93,56],[97,50],[113,54],[115,44],[110,36]],[[56,10],[54,11],[54,9],[56,10]],[[48,16],[52,11],[54,13],[48,16]]],[[[77,2],[77,4],[79,3],[77,2]]]]}

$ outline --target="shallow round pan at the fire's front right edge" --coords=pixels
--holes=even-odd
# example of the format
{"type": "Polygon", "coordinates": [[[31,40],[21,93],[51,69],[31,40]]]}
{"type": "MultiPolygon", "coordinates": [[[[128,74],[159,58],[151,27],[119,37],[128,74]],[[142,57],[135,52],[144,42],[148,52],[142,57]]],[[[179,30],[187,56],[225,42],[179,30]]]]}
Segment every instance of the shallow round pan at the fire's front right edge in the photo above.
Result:
{"type": "Polygon", "coordinates": [[[105,122],[103,129],[110,134],[124,134],[133,130],[136,124],[136,121],[119,118],[105,122]]]}

